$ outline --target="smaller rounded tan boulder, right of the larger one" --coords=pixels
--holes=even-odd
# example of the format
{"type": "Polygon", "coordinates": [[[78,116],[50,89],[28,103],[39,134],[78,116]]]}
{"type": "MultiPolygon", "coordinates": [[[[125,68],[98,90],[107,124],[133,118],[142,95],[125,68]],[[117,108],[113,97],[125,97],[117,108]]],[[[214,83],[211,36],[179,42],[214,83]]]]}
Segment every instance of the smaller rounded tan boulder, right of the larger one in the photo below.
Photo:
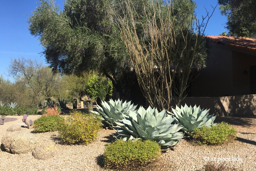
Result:
{"type": "Polygon", "coordinates": [[[56,146],[54,144],[38,144],[35,146],[32,155],[35,159],[46,160],[56,155],[56,146]]]}

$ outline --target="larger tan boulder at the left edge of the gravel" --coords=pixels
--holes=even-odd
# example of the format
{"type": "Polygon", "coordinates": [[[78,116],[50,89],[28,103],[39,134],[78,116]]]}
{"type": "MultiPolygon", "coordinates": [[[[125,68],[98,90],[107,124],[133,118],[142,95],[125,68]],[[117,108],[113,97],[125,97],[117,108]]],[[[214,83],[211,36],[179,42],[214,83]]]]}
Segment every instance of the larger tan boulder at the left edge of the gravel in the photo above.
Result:
{"type": "Polygon", "coordinates": [[[37,141],[32,133],[14,131],[2,137],[2,149],[9,153],[20,154],[32,152],[37,141]]]}

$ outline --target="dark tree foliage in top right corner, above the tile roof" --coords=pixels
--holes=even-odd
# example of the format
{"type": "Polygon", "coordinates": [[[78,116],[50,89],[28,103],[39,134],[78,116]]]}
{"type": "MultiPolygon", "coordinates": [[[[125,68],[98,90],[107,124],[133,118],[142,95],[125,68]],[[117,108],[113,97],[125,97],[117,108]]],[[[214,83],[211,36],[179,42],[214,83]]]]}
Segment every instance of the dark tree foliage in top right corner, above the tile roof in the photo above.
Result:
{"type": "Polygon", "coordinates": [[[218,0],[230,36],[256,38],[255,0],[218,0]]]}

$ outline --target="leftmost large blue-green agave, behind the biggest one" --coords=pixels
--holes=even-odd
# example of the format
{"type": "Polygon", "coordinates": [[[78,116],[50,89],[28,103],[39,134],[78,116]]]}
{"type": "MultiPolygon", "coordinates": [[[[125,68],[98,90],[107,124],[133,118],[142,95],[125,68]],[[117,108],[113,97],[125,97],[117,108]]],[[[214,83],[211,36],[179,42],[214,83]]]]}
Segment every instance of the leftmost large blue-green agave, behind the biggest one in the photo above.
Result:
{"type": "Polygon", "coordinates": [[[123,115],[129,115],[129,110],[135,111],[137,105],[131,104],[131,101],[123,101],[118,99],[117,101],[110,99],[109,104],[106,101],[102,101],[102,107],[98,106],[97,111],[92,111],[92,113],[96,113],[101,115],[102,124],[109,125],[110,128],[113,129],[116,126],[116,122],[118,120],[122,120],[123,115]]]}

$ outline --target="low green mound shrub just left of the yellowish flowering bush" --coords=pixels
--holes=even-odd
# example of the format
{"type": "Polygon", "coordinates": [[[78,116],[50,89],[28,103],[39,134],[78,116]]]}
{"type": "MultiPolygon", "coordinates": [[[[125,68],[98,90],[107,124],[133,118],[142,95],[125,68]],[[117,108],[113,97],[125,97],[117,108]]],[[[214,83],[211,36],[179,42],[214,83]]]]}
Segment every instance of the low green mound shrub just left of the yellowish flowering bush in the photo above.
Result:
{"type": "Polygon", "coordinates": [[[59,115],[42,116],[34,121],[34,132],[56,131],[63,120],[59,115]]]}

